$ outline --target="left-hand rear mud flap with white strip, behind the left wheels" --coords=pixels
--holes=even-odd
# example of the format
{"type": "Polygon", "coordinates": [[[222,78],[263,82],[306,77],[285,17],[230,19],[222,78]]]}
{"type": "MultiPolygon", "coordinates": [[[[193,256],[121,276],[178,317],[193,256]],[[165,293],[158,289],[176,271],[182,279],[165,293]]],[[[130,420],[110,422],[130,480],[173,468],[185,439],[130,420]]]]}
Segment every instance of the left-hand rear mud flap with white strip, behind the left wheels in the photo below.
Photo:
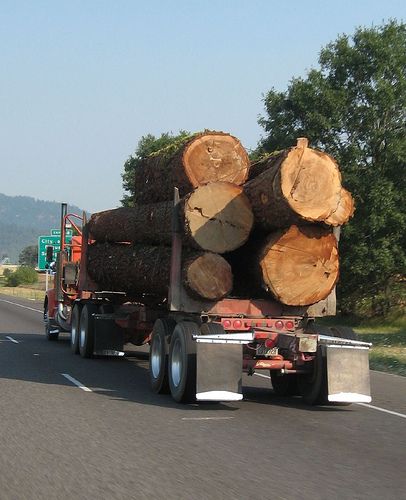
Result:
{"type": "Polygon", "coordinates": [[[197,401],[240,401],[242,345],[200,339],[196,343],[197,401]]]}

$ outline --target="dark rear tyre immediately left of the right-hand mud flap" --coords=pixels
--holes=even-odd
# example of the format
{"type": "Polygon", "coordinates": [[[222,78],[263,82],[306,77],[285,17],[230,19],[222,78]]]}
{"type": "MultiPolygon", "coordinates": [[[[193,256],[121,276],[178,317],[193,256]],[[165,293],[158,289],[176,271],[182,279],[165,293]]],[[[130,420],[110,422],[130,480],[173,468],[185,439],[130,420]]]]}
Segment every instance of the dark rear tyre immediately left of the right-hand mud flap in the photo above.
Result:
{"type": "Polygon", "coordinates": [[[327,402],[327,366],[320,347],[317,349],[312,373],[299,375],[297,382],[306,404],[320,405],[327,402]]]}

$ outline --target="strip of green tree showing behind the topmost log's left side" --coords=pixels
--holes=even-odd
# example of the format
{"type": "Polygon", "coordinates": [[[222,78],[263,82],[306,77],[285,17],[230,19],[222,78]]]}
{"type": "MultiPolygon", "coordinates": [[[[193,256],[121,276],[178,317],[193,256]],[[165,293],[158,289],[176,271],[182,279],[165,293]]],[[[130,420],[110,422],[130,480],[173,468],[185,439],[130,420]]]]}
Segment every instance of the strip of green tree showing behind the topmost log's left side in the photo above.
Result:
{"type": "Polygon", "coordinates": [[[185,139],[188,135],[189,132],[181,130],[177,135],[174,135],[170,132],[165,132],[159,137],[155,137],[152,134],[144,135],[143,137],[141,137],[135,153],[131,155],[124,163],[124,172],[122,174],[122,178],[123,188],[124,191],[127,191],[127,193],[124,194],[124,197],[121,200],[123,206],[133,206],[133,198],[135,192],[134,171],[140,165],[142,160],[152,153],[156,153],[161,149],[164,149],[182,139],[185,139]]]}

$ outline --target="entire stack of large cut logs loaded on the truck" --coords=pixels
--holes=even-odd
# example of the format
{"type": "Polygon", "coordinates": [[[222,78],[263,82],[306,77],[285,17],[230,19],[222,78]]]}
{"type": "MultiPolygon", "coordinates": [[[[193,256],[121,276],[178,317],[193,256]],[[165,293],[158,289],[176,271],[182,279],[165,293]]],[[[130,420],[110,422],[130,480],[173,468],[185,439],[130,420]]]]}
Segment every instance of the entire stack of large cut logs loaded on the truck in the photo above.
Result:
{"type": "Polygon", "coordinates": [[[168,295],[174,187],[183,228],[182,283],[191,297],[269,296],[304,306],[338,279],[332,228],[354,203],[328,154],[297,145],[250,164],[222,132],[189,137],[146,158],[135,172],[132,208],[92,215],[88,271],[103,288],[168,295]]]}

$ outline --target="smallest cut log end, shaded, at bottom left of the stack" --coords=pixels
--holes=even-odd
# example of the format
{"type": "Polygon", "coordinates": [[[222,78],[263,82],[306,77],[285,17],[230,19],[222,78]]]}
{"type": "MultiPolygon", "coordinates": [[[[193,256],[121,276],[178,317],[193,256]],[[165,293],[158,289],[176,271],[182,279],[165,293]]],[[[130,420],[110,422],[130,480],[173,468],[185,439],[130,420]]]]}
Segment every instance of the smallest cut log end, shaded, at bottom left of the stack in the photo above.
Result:
{"type": "Polygon", "coordinates": [[[233,273],[223,257],[206,252],[185,262],[183,282],[192,295],[220,300],[233,288],[233,273]]]}

